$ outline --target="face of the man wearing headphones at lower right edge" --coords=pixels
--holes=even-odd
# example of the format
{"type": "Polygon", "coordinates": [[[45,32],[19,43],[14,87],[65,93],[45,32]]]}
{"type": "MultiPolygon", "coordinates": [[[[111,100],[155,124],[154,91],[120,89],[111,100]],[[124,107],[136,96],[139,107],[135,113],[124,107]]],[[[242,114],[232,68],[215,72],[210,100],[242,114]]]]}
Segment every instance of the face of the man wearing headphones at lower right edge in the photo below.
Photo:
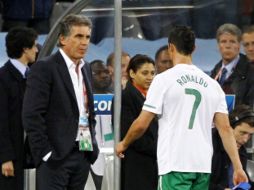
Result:
{"type": "Polygon", "coordinates": [[[253,133],[254,127],[251,127],[249,124],[243,122],[240,125],[237,125],[234,129],[237,148],[239,149],[241,146],[246,144],[253,133]]]}

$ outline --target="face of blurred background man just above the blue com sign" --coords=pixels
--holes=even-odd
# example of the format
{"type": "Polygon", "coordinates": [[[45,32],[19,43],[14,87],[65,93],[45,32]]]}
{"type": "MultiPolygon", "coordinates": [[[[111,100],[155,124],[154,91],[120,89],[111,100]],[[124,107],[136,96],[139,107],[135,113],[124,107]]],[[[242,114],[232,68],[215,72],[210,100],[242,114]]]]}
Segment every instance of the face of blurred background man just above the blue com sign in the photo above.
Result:
{"type": "MultiPolygon", "coordinates": [[[[97,90],[107,90],[111,85],[111,78],[106,65],[98,63],[92,65],[93,84],[97,90]]],[[[106,93],[106,92],[105,92],[106,93]]]]}

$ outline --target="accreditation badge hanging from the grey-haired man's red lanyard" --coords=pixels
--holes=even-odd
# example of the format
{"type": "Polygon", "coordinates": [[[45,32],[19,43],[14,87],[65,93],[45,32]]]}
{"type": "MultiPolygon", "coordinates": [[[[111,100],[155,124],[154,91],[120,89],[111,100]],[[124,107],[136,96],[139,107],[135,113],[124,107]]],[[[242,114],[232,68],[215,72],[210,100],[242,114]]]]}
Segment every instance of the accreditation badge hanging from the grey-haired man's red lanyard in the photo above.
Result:
{"type": "Polygon", "coordinates": [[[79,118],[78,141],[80,151],[93,151],[87,115],[80,116],[79,118]]]}

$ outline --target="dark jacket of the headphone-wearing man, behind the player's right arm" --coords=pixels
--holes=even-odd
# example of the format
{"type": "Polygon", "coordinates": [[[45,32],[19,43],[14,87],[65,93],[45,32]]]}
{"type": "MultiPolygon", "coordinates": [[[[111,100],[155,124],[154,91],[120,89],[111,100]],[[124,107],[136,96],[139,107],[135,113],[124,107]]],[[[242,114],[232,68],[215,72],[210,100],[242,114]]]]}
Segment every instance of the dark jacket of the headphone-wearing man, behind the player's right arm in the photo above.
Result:
{"type": "MultiPolygon", "coordinates": [[[[221,138],[217,129],[213,129],[213,159],[212,159],[212,173],[210,178],[209,190],[224,190],[228,188],[228,168],[231,161],[223,147],[221,138]]],[[[239,149],[239,156],[246,172],[248,155],[244,146],[239,149]]],[[[253,184],[252,184],[253,185],[253,184]]],[[[252,186],[252,190],[254,187],[252,186]]]]}

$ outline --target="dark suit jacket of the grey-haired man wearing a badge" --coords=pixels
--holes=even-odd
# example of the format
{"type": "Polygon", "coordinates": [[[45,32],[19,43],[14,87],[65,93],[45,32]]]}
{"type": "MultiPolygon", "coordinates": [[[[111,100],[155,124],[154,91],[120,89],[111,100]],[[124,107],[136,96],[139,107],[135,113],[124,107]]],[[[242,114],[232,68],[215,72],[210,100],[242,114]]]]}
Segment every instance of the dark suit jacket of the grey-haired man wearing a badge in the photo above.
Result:
{"type": "MultiPolygon", "coordinates": [[[[95,140],[95,113],[91,72],[88,64],[82,68],[87,89],[89,124],[94,151],[84,156],[93,163],[98,156],[95,140]]],[[[38,165],[52,151],[50,160],[65,158],[75,146],[79,109],[66,63],[60,54],[38,61],[32,66],[27,80],[23,105],[23,124],[28,134],[31,152],[38,165]]]]}

